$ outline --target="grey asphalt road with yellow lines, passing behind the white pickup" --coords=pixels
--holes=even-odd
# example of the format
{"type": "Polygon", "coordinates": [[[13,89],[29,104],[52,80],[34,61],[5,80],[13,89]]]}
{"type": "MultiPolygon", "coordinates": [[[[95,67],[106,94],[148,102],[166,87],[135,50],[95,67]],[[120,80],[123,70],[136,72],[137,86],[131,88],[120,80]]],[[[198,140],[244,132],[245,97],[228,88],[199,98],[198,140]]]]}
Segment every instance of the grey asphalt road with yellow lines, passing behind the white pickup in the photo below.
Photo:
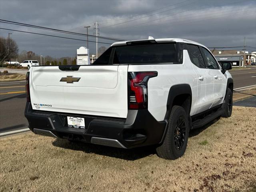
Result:
{"type": "MultiPolygon", "coordinates": [[[[256,85],[256,68],[231,70],[234,89],[256,85]]],[[[0,83],[0,133],[27,128],[25,81],[0,83]]]]}

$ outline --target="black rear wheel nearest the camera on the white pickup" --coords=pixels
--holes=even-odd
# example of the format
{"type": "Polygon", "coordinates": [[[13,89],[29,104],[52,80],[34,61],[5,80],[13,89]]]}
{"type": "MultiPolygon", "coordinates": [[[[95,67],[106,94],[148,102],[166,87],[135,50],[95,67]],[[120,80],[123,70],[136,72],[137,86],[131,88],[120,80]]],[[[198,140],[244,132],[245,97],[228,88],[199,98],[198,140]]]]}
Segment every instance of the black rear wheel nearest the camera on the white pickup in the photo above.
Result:
{"type": "Polygon", "coordinates": [[[173,106],[164,142],[156,148],[156,154],[164,159],[180,158],[185,153],[188,144],[188,132],[188,114],[181,106],[173,106]]]}

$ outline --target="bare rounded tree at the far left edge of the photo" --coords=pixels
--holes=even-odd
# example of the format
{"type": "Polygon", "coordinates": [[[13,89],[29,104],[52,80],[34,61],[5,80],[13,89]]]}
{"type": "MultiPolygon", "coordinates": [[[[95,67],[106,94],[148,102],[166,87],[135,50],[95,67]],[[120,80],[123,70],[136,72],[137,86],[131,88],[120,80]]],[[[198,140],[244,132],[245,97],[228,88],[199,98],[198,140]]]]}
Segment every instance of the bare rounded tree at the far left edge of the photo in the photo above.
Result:
{"type": "Polygon", "coordinates": [[[9,57],[16,57],[18,52],[18,45],[13,39],[10,38],[9,41],[7,38],[0,37],[0,64],[3,64],[9,57]]]}

